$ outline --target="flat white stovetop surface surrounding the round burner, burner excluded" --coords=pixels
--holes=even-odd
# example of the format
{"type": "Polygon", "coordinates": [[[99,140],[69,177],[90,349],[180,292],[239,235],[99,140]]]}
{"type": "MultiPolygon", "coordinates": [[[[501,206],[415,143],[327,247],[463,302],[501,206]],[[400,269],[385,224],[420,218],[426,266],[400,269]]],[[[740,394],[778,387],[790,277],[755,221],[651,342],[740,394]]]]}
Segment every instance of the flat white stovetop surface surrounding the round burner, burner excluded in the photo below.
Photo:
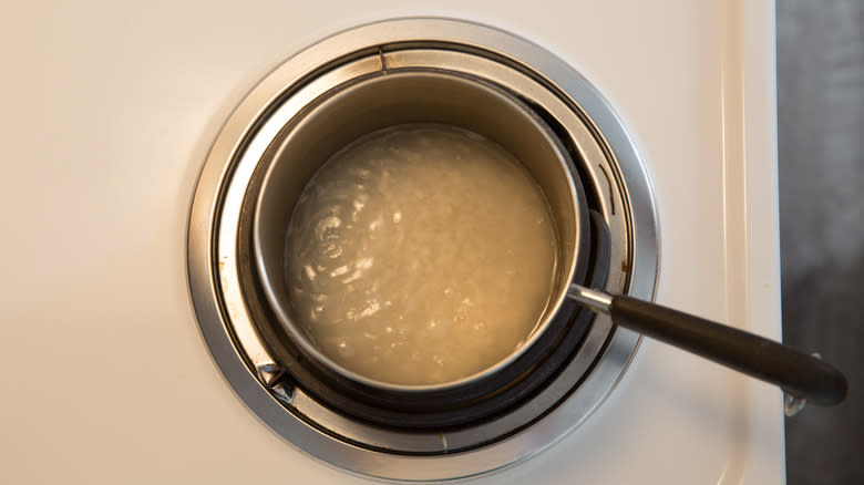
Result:
{"type": "MultiPolygon", "coordinates": [[[[780,337],[771,2],[423,3],[4,8],[0,483],[359,482],[233,394],[195,323],[184,248],[233,107],[292,52],[371,20],[476,20],[569,61],[652,174],[658,301],[780,337]]],[[[481,482],[531,481],[782,483],[781,394],[647,341],[586,424],[481,482]]]]}

